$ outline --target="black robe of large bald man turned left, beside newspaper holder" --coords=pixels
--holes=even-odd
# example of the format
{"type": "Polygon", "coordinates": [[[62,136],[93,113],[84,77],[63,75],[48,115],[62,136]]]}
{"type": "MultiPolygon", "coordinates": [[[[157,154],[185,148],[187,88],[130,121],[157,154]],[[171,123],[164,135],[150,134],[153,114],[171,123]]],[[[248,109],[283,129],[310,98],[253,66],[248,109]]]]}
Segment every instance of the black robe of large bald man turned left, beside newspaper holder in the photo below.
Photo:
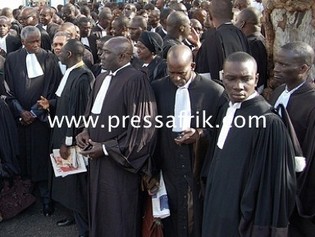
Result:
{"type": "Polygon", "coordinates": [[[89,236],[140,236],[144,204],[140,198],[141,173],[150,173],[155,147],[154,124],[148,128],[142,125],[144,116],[154,119],[156,115],[155,98],[145,74],[127,66],[111,79],[101,114],[91,114],[105,76],[97,77],[87,106],[87,114],[98,117],[96,127],[88,128],[90,138],[103,143],[109,153],[89,163],[89,236]],[[130,119],[123,125],[122,116],[128,115],[141,118],[140,128],[131,126],[130,119]],[[111,131],[110,116],[120,119],[119,126],[111,131]]]}

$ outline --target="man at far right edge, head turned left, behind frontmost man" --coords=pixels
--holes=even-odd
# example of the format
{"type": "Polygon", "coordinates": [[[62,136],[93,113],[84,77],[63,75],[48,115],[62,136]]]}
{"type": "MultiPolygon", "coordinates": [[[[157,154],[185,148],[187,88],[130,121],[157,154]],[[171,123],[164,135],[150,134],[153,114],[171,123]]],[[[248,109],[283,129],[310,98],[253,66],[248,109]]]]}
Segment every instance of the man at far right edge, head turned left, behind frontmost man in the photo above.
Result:
{"type": "Polygon", "coordinates": [[[274,78],[285,84],[274,91],[271,104],[286,107],[306,158],[304,171],[297,174],[297,208],[289,226],[292,237],[315,233],[315,89],[309,78],[313,61],[314,50],[303,42],[288,43],[275,55],[274,78]]]}

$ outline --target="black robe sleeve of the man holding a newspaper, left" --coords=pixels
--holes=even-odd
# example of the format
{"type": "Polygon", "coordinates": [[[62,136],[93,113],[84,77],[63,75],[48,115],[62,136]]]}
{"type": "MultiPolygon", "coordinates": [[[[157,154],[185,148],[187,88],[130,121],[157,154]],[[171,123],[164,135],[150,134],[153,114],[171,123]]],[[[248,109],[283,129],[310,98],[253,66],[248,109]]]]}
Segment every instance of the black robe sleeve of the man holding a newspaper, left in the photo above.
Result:
{"type": "MultiPolygon", "coordinates": [[[[81,77],[78,78],[78,81],[75,82],[76,85],[71,90],[72,93],[70,95],[69,107],[66,114],[68,119],[78,119],[80,116],[84,115],[91,92],[90,83],[93,79],[94,78],[89,77],[88,74],[82,74],[81,77]]],[[[77,134],[78,128],[76,128],[75,126],[68,127],[66,131],[65,144],[69,146],[72,145],[77,134]],[[67,140],[71,141],[71,144],[67,144],[67,140]]]]}

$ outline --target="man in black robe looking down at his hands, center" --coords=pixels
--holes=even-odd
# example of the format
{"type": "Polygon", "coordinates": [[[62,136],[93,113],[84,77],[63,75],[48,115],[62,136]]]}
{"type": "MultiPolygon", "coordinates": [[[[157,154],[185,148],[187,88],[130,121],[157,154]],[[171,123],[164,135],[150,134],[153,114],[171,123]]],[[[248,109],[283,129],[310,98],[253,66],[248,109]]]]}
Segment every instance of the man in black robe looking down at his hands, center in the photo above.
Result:
{"type": "Polygon", "coordinates": [[[189,47],[173,46],[167,56],[169,76],[152,83],[164,124],[169,116],[176,116],[174,110],[183,100],[176,97],[186,86],[190,97],[188,110],[193,116],[190,124],[177,132],[163,126],[158,133],[154,163],[163,172],[170,207],[170,217],[163,219],[165,236],[201,236],[199,178],[207,144],[203,132],[214,123],[219,107],[226,102],[223,87],[196,74],[194,66],[189,47]],[[210,116],[209,124],[205,123],[210,116]],[[179,134],[181,138],[177,137],[179,134]]]}

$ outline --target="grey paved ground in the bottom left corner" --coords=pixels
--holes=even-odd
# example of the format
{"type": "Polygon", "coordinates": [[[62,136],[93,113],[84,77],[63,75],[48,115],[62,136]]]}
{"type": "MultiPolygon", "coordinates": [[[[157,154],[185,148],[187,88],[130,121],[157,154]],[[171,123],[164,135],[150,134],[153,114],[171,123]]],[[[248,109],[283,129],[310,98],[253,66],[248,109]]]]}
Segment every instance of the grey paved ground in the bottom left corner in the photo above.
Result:
{"type": "Polygon", "coordinates": [[[0,237],[75,237],[75,225],[57,227],[56,222],[65,217],[65,209],[56,205],[51,217],[41,213],[41,203],[36,202],[18,216],[0,222],[0,237]]]}

